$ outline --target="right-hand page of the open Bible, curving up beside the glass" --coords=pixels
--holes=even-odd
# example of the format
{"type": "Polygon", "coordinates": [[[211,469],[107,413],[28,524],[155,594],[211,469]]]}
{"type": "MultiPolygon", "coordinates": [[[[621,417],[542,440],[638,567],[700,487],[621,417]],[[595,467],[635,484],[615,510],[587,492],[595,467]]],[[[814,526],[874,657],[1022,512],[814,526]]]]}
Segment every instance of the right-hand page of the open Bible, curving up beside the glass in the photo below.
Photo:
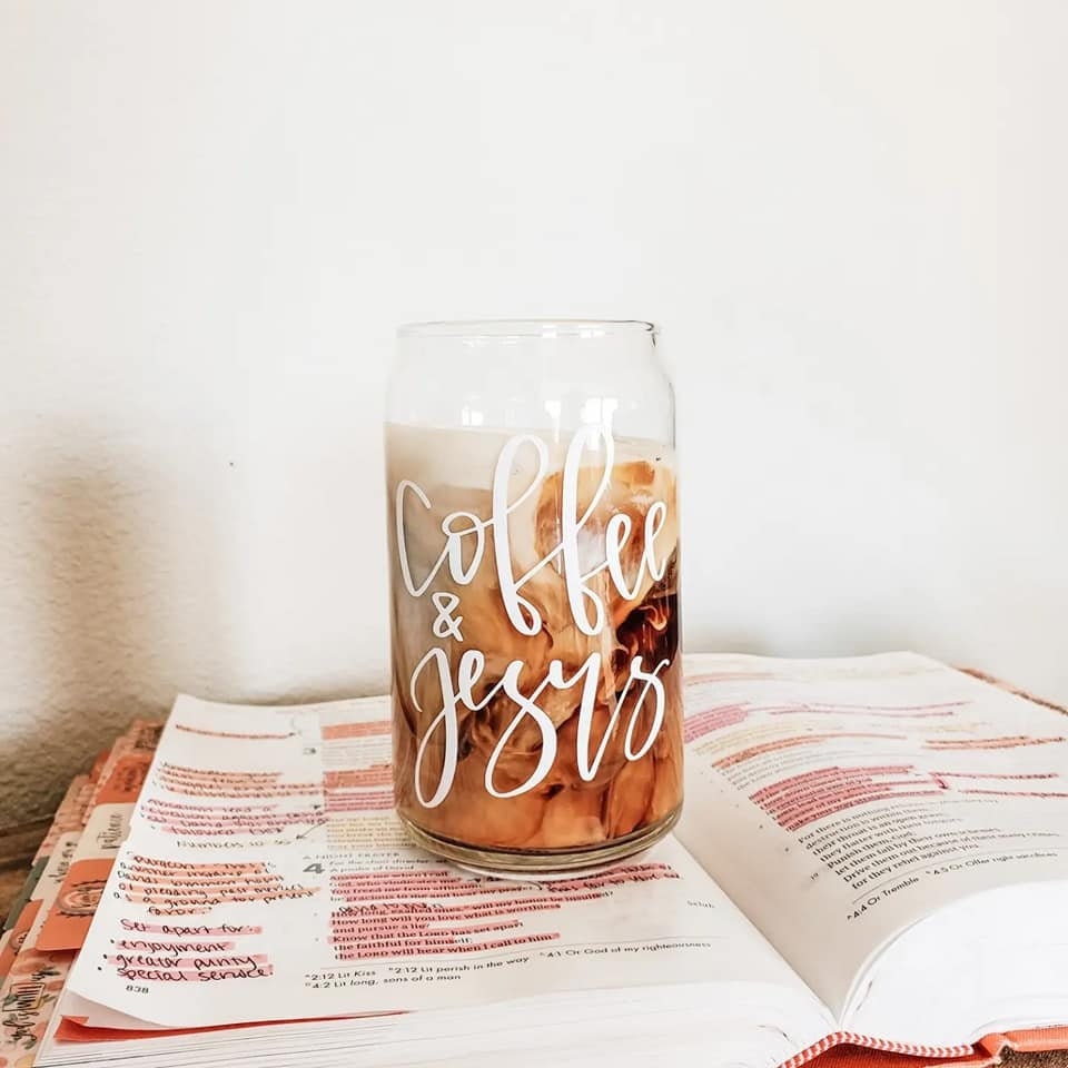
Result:
{"type": "Polygon", "coordinates": [[[679,837],[835,1013],[939,906],[1068,878],[1068,716],[914,654],[688,663],[679,837]]]}

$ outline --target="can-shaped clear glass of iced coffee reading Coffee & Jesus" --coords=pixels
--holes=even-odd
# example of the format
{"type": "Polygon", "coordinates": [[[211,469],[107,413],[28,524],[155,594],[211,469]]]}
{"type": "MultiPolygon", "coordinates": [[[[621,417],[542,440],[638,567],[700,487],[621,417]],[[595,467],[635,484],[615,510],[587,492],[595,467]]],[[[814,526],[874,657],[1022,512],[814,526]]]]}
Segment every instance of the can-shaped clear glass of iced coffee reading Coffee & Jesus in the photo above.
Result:
{"type": "Polygon", "coordinates": [[[426,849],[524,872],[682,805],[674,399],[639,322],[397,332],[394,787],[426,849]]]}

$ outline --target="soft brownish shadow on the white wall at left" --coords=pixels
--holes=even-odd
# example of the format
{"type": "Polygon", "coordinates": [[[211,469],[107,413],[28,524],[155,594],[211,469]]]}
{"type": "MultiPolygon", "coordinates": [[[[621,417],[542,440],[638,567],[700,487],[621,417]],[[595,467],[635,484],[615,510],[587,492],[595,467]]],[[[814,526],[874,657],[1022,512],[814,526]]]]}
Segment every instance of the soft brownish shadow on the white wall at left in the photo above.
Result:
{"type": "Polygon", "coordinates": [[[0,521],[0,828],[50,813],[132,718],[165,713],[179,680],[225,684],[230,660],[205,481],[70,427],[23,444],[0,521]]]}

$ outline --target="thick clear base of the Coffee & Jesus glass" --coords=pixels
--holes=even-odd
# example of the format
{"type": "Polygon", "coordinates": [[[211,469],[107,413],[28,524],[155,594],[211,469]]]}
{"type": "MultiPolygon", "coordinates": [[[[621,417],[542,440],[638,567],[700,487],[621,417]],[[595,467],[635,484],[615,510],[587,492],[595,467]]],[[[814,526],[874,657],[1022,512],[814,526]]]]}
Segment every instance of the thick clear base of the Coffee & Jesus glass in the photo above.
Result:
{"type": "Polygon", "coordinates": [[[452,860],[479,876],[522,876],[527,879],[552,879],[563,876],[591,874],[609,864],[633,857],[659,842],[679,822],[680,804],[650,827],[595,846],[567,849],[486,849],[465,846],[449,838],[439,838],[417,827],[400,813],[400,821],[415,843],[427,852],[452,860]]]}

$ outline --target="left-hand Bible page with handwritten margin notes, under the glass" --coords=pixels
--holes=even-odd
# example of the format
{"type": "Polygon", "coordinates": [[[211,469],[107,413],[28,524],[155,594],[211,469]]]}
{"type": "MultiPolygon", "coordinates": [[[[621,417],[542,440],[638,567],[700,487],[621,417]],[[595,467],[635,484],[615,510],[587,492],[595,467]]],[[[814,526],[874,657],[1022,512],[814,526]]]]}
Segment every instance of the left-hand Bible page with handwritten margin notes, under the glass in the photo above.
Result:
{"type": "Polygon", "coordinates": [[[778,988],[808,1007],[805,1041],[824,1032],[825,1009],[673,839],[551,882],[409,846],[387,718],[386,699],[179,699],[70,990],[102,1022],[186,1028],[723,981],[778,988]]]}

